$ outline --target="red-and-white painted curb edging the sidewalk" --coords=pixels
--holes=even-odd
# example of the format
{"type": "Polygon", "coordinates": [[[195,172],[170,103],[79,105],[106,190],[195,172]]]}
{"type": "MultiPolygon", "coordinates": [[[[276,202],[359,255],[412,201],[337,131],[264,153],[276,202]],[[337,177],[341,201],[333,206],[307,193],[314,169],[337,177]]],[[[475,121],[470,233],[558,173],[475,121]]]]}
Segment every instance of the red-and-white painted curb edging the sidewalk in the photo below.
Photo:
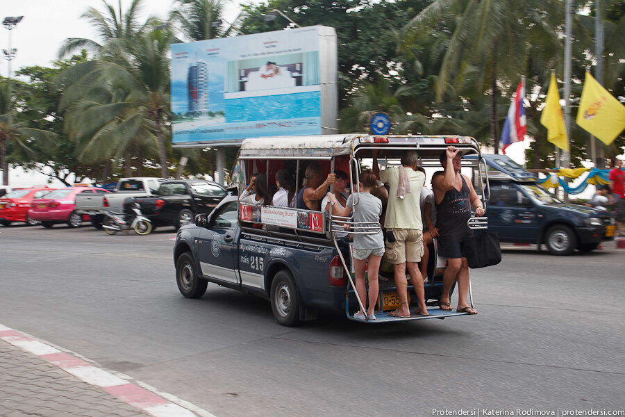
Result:
{"type": "MultiPolygon", "coordinates": [[[[128,382],[126,379],[98,368],[73,354],[63,352],[56,347],[35,340],[31,336],[1,324],[0,339],[58,366],[65,372],[81,379],[81,381],[97,386],[119,400],[126,402],[126,404],[130,404],[153,417],[215,417],[208,411],[200,409],[197,409],[196,412],[198,414],[195,414],[189,409],[163,398],[161,395],[128,382]]],[[[172,395],[167,396],[172,397],[172,395]]]]}

